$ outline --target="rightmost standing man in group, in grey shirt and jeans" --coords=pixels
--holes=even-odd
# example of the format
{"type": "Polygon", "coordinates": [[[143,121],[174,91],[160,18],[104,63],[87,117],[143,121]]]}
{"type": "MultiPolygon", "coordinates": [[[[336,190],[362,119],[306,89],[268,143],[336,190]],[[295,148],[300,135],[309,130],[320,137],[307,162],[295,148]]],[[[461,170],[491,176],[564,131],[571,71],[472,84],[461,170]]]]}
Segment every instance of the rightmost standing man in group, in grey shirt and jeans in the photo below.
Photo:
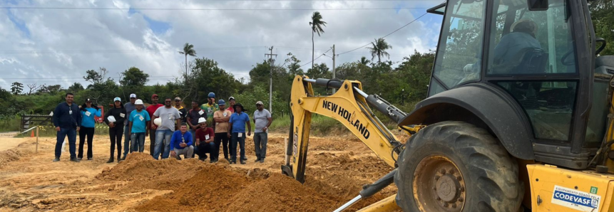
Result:
{"type": "Polygon", "coordinates": [[[256,102],[256,109],[254,111],[254,150],[256,152],[256,162],[264,163],[267,156],[268,129],[273,119],[271,113],[265,109],[262,101],[256,102]]]}

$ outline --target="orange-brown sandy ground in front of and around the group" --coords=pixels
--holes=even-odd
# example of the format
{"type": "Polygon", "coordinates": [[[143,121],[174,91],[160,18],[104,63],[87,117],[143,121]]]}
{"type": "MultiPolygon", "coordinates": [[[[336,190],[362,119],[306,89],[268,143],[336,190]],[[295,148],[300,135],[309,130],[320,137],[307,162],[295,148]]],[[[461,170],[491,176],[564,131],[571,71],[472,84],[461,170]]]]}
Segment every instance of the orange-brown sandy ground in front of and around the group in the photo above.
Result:
{"type": "MultiPolygon", "coordinates": [[[[36,138],[0,137],[0,149],[8,149],[0,152],[0,211],[176,211],[177,207],[188,211],[271,211],[270,205],[277,206],[277,202],[283,204],[273,211],[332,211],[357,196],[363,184],[392,171],[352,135],[312,137],[307,179],[301,185],[280,174],[285,136],[270,134],[264,164],[254,162],[253,141],[247,138],[245,165],[228,164],[221,151],[222,159],[213,165],[197,159],[155,161],[148,156],[148,146],[145,154],[129,154],[120,164],[106,164],[110,142],[98,135],[93,142],[93,161],[68,161],[68,152],[63,152],[61,161],[53,162],[55,138],[41,138],[35,154],[36,138]],[[177,184],[176,179],[189,179],[193,184],[177,184]],[[226,187],[219,187],[222,184],[226,187]],[[190,190],[199,186],[203,188],[190,190]],[[238,187],[229,189],[233,186],[238,187]],[[191,193],[186,193],[188,190],[191,193]],[[203,195],[209,201],[180,195],[203,195]],[[226,197],[212,202],[216,196],[226,197]],[[258,201],[260,196],[275,202],[258,201]],[[290,208],[303,206],[309,208],[290,208]]],[[[148,143],[149,138],[145,140],[148,143]]],[[[353,209],[395,192],[394,186],[389,186],[353,209]]]]}

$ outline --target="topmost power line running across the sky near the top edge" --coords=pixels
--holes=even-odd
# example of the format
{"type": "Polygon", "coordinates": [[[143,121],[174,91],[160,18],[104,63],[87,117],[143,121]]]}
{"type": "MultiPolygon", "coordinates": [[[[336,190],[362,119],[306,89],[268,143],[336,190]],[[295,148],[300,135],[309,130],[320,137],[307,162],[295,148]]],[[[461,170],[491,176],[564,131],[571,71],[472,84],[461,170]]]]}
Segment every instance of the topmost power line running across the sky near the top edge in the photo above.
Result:
{"type": "Polygon", "coordinates": [[[151,10],[151,11],[343,11],[343,10],[399,10],[399,9],[429,9],[426,7],[389,7],[389,8],[337,8],[337,9],[238,9],[238,8],[113,8],[113,7],[31,7],[3,6],[0,9],[67,9],[67,10],[151,10]]]}

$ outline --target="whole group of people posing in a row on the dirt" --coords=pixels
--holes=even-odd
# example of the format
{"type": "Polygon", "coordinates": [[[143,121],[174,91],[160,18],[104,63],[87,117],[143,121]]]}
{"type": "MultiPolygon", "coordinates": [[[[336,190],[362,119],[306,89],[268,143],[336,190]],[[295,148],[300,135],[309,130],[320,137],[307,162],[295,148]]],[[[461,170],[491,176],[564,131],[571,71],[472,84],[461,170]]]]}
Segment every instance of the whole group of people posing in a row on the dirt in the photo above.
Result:
{"type": "MultiPolygon", "coordinates": [[[[66,94],[66,102],[60,103],[53,110],[53,125],[57,131],[55,159],[60,161],[63,142],[68,137],[68,152],[71,161],[83,159],[83,147],[88,145],[87,159],[92,160],[92,139],[96,120],[101,110],[90,99],[79,106],[73,103],[74,95],[66,94]],[[76,154],[76,132],[79,132],[79,149],[76,154]]],[[[126,159],[132,152],[145,150],[145,137],[150,137],[149,152],[154,159],[189,159],[198,155],[201,161],[210,159],[215,163],[220,157],[220,146],[224,158],[230,164],[237,163],[237,146],[240,149],[240,163],[245,164],[245,137],[251,136],[250,115],[235,98],[215,103],[215,93],[210,92],[208,102],[199,105],[194,100],[191,109],[186,110],[180,97],[164,99],[158,103],[158,95],[151,95],[151,105],[145,107],[143,100],[130,95],[130,102],[123,104],[120,97],[113,99],[113,107],[106,111],[103,121],[108,125],[111,140],[111,155],[107,163],[113,163],[117,151],[117,162],[126,159]],[[209,121],[213,122],[210,125],[209,121]],[[247,130],[245,129],[247,126],[247,130]],[[123,154],[122,154],[122,137],[123,154]],[[209,156],[207,155],[209,154],[209,156]]],[[[271,113],[261,101],[256,102],[257,110],[251,120],[255,124],[254,144],[256,162],[264,163],[267,154],[268,127],[272,123],[271,113]]]]}

